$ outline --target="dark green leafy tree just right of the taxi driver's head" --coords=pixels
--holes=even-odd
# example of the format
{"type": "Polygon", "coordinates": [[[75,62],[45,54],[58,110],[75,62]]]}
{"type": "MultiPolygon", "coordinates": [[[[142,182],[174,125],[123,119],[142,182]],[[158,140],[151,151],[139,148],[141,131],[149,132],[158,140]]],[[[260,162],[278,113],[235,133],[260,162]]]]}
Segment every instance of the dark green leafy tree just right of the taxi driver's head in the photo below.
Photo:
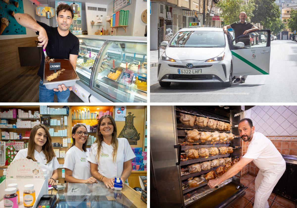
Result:
{"type": "Polygon", "coordinates": [[[251,21],[261,23],[264,29],[269,29],[280,18],[279,7],[274,0],[255,0],[255,3],[251,21]]]}

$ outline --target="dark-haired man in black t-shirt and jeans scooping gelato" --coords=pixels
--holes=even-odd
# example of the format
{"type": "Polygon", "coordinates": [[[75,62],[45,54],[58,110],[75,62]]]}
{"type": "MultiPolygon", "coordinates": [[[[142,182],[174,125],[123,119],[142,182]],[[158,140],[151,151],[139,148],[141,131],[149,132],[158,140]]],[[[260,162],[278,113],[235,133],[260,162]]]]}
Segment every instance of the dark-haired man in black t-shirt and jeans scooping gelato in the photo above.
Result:
{"type": "MultiPolygon", "coordinates": [[[[69,59],[73,68],[76,68],[76,60],[79,51],[78,38],[69,32],[69,28],[74,17],[72,8],[68,4],[60,4],[56,9],[56,21],[58,27],[51,27],[45,23],[36,21],[28,14],[15,14],[18,23],[26,28],[34,30],[42,47],[46,50],[50,59],[69,59]]],[[[54,94],[58,97],[58,102],[68,102],[68,97],[72,87],[59,85],[58,89],[49,90],[43,85],[43,67],[45,55],[42,53],[38,75],[41,77],[39,83],[39,102],[53,102],[54,94]]]]}

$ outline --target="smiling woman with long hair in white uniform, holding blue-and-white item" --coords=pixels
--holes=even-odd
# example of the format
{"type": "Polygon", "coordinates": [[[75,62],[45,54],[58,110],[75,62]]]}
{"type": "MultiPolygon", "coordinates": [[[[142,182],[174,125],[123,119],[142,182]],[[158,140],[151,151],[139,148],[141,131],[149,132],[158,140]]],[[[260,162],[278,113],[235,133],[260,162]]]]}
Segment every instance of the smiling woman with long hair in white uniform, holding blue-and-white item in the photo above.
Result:
{"type": "Polygon", "coordinates": [[[88,160],[91,162],[91,174],[107,188],[114,188],[115,177],[120,177],[124,184],[132,171],[131,159],[135,157],[128,140],[117,138],[116,135],[113,117],[102,116],[88,160]]]}

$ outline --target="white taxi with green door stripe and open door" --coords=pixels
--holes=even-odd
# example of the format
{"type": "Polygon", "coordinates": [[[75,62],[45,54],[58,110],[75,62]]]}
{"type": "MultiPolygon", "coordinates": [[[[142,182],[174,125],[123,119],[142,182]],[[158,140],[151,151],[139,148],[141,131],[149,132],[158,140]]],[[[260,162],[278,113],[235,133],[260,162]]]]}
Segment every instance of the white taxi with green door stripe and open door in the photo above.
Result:
{"type": "Polygon", "coordinates": [[[158,61],[160,86],[171,82],[218,82],[229,87],[233,76],[269,74],[270,30],[257,30],[233,39],[222,28],[183,28],[168,41],[158,61]],[[250,35],[258,36],[251,44],[250,35]]]}

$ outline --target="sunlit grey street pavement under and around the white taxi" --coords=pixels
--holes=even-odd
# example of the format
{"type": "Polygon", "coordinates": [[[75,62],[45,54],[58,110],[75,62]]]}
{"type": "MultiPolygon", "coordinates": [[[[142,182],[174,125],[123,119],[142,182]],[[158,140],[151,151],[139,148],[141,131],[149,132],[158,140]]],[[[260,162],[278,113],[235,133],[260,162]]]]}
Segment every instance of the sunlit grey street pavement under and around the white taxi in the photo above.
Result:
{"type": "MultiPolygon", "coordinates": [[[[151,60],[151,63],[154,59],[151,60]]],[[[297,102],[297,42],[271,41],[270,74],[249,75],[245,83],[171,83],[161,87],[150,69],[151,102],[297,102]]]]}

